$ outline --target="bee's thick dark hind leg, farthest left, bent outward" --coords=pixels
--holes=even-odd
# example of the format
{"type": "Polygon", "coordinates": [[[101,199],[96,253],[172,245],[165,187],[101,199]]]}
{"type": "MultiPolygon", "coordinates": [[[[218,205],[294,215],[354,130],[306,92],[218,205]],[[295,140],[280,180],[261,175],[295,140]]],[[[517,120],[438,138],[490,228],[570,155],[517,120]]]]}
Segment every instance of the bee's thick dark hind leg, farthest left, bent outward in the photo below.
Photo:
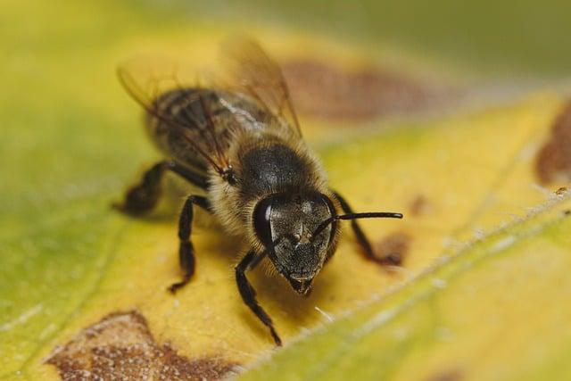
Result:
{"type": "Polygon", "coordinates": [[[113,207],[134,215],[142,214],[153,209],[154,205],[159,201],[159,196],[161,195],[161,179],[167,170],[171,170],[182,178],[186,178],[186,180],[195,186],[199,186],[203,189],[206,188],[206,179],[203,178],[203,176],[194,173],[192,170],[187,170],[177,162],[167,160],[158,162],[154,164],[150,170],[147,170],[141,183],[128,190],[127,195],[125,195],[125,202],[122,204],[113,204],[113,207]]]}

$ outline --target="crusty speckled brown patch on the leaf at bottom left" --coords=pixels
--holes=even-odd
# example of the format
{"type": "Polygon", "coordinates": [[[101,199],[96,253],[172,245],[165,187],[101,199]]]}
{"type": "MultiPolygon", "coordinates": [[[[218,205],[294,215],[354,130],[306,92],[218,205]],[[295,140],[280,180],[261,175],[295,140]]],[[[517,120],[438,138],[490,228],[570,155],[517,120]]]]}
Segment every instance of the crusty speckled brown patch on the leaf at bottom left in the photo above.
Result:
{"type": "Polygon", "coordinates": [[[137,311],[108,315],[58,347],[46,363],[63,380],[213,380],[234,373],[236,364],[216,358],[189,360],[159,345],[137,311]]]}

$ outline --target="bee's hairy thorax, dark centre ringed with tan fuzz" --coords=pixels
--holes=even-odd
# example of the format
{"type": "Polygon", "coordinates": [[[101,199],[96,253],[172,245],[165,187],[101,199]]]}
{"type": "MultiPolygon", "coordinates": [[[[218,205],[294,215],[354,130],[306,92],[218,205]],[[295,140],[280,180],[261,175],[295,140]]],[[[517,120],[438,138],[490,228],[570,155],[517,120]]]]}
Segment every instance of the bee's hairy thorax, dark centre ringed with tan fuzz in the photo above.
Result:
{"type": "Polygon", "coordinates": [[[228,233],[253,236],[253,208],[268,195],[327,193],[324,171],[299,139],[274,131],[248,131],[236,137],[228,156],[235,184],[228,184],[214,170],[209,172],[211,205],[228,233]]]}

